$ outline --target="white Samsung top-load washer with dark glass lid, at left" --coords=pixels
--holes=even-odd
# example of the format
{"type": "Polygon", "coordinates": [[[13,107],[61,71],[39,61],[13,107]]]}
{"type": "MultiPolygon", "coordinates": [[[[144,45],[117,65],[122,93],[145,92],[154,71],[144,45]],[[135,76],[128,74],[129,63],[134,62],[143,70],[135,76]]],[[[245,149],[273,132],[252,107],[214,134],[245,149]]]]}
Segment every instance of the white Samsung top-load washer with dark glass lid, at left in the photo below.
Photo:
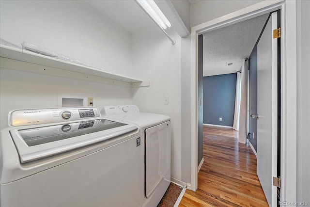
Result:
{"type": "Polygon", "coordinates": [[[1,207],[140,207],[140,130],[95,107],[17,110],[0,137],[1,207]]]}

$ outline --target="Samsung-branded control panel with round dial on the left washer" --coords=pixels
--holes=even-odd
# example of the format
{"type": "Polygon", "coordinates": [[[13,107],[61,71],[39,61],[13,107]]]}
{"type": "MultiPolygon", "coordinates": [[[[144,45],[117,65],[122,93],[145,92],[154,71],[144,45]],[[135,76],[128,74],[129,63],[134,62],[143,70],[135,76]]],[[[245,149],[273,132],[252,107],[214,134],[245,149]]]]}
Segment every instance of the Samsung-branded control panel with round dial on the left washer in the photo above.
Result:
{"type": "MultiPolygon", "coordinates": [[[[96,107],[15,110],[9,112],[9,125],[17,127],[52,124],[100,116],[100,111],[96,107]]],[[[64,130],[67,130],[66,127],[64,130]]]]}

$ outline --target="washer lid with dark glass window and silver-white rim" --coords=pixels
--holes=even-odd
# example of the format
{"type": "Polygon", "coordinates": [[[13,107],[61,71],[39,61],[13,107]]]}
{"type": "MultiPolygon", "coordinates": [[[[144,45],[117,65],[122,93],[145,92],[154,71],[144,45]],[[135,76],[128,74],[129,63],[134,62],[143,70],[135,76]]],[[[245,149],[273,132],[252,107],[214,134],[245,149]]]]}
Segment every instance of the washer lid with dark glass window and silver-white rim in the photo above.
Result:
{"type": "Polygon", "coordinates": [[[105,119],[47,127],[10,130],[20,161],[30,162],[70,150],[103,142],[137,130],[131,124],[105,119]]]}

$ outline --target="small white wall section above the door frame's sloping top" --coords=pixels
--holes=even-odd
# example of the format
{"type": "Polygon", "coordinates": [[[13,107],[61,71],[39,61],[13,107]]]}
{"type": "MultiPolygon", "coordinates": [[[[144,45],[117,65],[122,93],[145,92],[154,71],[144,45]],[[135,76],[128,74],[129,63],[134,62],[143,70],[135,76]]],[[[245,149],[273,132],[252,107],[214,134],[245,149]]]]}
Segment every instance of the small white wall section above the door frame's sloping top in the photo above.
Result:
{"type": "Polygon", "coordinates": [[[199,0],[190,4],[190,26],[246,8],[262,0],[199,0]]]}

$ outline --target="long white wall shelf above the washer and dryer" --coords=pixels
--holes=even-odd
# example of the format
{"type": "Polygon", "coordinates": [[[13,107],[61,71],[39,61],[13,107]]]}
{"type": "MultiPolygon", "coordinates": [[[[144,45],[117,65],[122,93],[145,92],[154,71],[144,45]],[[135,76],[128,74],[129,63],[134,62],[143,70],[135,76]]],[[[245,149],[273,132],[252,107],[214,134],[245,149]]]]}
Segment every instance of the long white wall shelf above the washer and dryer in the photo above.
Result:
{"type": "MultiPolygon", "coordinates": [[[[92,67],[88,67],[84,65],[70,63],[70,62],[55,59],[52,57],[48,57],[45,55],[37,54],[37,53],[31,52],[28,50],[22,50],[21,48],[13,48],[13,47],[5,46],[5,45],[0,45],[0,57],[11,59],[11,60],[16,60],[16,61],[21,61],[25,63],[30,63],[30,64],[47,66],[50,68],[57,68],[57,69],[65,70],[65,71],[71,71],[73,72],[71,78],[78,77],[79,80],[83,79],[83,80],[90,80],[90,81],[95,81],[95,82],[105,82],[108,84],[114,83],[115,85],[124,85],[124,86],[129,86],[129,87],[141,87],[141,86],[150,85],[149,81],[138,80],[138,79],[134,79],[131,77],[123,76],[123,75],[105,71],[105,70],[100,70],[97,68],[92,68],[92,67]],[[85,75],[89,75],[89,76],[85,76],[85,75]],[[100,80],[100,78],[103,78],[103,79],[100,80]],[[109,80],[107,81],[107,79],[109,80]]],[[[1,62],[5,62],[4,61],[5,59],[2,59],[2,58],[1,58],[1,62]]],[[[7,60],[7,62],[10,62],[10,60],[7,60]]],[[[12,64],[13,62],[11,61],[10,64],[1,63],[1,66],[7,67],[7,68],[9,67],[9,69],[25,70],[22,68],[13,68],[12,66],[10,66],[12,64]]],[[[44,70],[46,70],[46,68],[44,70]]],[[[59,74],[60,70],[51,69],[49,71],[50,72],[47,72],[47,71],[40,72],[40,70],[36,70],[36,71],[32,70],[30,72],[37,72],[37,73],[60,76],[59,74]]],[[[63,74],[66,74],[64,75],[65,77],[69,76],[70,78],[70,74],[66,72],[63,74]]]]}

